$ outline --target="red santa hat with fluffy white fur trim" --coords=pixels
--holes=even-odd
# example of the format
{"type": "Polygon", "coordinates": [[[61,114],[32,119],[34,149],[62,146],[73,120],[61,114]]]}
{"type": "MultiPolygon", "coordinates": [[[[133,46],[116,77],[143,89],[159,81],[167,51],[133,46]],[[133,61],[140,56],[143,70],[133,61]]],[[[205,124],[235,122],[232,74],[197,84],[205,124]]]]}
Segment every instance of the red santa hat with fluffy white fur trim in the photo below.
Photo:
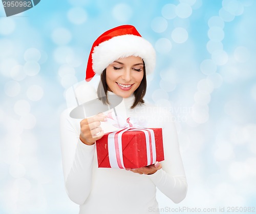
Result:
{"type": "Polygon", "coordinates": [[[156,64],[156,52],[153,46],[142,38],[132,25],[122,25],[101,34],[93,43],[86,70],[86,81],[117,59],[139,56],[145,62],[146,74],[153,73],[156,64]]]}

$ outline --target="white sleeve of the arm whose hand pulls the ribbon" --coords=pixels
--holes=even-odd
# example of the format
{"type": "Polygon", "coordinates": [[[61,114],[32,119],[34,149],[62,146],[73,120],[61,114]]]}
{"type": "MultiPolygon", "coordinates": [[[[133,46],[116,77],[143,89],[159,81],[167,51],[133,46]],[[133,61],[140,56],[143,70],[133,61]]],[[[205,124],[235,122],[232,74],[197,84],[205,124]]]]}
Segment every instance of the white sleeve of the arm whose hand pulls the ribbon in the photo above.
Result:
{"type": "Polygon", "coordinates": [[[79,139],[80,127],[69,117],[69,110],[60,117],[60,141],[63,173],[69,198],[83,204],[91,191],[95,145],[83,144],[79,139]]]}

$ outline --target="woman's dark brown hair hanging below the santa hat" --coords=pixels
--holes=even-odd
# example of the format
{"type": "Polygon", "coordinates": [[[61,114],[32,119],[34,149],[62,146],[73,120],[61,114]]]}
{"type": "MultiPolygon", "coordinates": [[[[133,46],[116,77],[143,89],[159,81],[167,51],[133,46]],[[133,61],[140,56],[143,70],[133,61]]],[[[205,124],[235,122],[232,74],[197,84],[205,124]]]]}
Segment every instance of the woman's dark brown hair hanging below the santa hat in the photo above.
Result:
{"type": "MultiPolygon", "coordinates": [[[[99,83],[98,90],[97,90],[98,98],[103,102],[103,104],[109,104],[108,95],[106,93],[108,91],[108,85],[106,84],[106,69],[104,69],[104,71],[101,73],[100,80],[101,82],[99,83]]],[[[137,104],[141,105],[144,103],[143,97],[145,96],[145,93],[146,93],[146,68],[143,60],[143,78],[141,80],[141,83],[138,89],[136,89],[133,93],[135,96],[135,99],[134,99],[133,105],[131,106],[131,109],[134,109],[137,104]]]]}

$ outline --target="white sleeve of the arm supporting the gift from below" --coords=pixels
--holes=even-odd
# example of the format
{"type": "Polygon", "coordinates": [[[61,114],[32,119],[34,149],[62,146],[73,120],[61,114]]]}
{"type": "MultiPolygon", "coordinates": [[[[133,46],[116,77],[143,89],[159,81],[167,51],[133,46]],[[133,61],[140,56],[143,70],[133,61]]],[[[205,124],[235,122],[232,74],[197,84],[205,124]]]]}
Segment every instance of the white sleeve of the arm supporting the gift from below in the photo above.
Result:
{"type": "Polygon", "coordinates": [[[174,203],[181,202],[187,192],[187,182],[180,155],[178,136],[173,116],[162,112],[154,121],[161,120],[164,145],[164,161],[162,169],[153,175],[148,175],[152,182],[174,203]]]}

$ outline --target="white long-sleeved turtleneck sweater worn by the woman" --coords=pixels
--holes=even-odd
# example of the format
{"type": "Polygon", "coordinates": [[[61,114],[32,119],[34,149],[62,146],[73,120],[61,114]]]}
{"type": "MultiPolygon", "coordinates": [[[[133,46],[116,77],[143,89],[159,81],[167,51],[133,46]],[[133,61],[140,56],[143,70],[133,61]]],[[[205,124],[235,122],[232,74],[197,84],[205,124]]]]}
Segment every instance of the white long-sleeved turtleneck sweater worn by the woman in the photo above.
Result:
{"type": "Polygon", "coordinates": [[[127,117],[136,118],[144,127],[162,128],[162,169],[153,175],[139,175],[125,169],[98,168],[95,144],[86,145],[79,139],[81,119],[71,118],[70,110],[64,111],[60,121],[63,173],[68,196],[80,205],[80,214],[159,213],[152,212],[158,208],[156,187],[174,203],[186,196],[186,177],[172,115],[147,103],[132,110],[133,96],[123,101],[127,117]]]}

